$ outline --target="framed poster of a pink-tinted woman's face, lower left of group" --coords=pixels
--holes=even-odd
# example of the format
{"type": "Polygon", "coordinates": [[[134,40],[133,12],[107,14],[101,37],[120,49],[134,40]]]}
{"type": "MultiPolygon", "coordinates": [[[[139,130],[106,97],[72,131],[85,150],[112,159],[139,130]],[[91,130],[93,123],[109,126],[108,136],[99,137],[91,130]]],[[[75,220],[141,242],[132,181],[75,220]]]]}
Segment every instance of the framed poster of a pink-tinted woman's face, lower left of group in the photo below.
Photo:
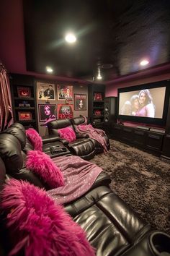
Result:
{"type": "Polygon", "coordinates": [[[48,121],[56,119],[56,105],[55,104],[38,104],[39,121],[48,121]]]}

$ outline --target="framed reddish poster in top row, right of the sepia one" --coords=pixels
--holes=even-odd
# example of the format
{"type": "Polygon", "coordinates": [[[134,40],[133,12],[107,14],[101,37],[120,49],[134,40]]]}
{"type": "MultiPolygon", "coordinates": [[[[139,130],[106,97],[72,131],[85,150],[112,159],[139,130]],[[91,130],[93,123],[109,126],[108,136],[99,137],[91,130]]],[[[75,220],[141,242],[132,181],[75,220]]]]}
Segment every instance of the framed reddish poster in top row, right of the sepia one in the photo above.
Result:
{"type": "Polygon", "coordinates": [[[58,101],[73,101],[73,85],[58,85],[58,101]]]}

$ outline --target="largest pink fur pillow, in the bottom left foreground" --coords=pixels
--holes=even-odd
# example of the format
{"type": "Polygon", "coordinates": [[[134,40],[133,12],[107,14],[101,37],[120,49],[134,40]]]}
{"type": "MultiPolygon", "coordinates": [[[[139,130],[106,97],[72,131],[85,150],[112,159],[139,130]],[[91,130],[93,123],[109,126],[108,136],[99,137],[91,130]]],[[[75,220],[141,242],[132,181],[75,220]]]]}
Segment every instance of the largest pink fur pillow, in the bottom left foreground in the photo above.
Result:
{"type": "Polygon", "coordinates": [[[1,208],[14,236],[10,255],[94,256],[81,227],[61,205],[34,185],[10,179],[1,192],[1,208]]]}

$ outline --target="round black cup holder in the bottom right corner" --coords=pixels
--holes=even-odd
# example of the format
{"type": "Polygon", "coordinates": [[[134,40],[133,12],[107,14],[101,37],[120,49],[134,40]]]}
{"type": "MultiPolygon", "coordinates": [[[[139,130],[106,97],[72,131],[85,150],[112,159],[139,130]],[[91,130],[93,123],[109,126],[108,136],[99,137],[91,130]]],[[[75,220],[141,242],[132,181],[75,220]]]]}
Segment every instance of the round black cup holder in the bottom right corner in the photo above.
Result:
{"type": "Polygon", "coordinates": [[[164,232],[153,232],[149,238],[151,249],[156,256],[170,256],[170,236],[164,232]]]}

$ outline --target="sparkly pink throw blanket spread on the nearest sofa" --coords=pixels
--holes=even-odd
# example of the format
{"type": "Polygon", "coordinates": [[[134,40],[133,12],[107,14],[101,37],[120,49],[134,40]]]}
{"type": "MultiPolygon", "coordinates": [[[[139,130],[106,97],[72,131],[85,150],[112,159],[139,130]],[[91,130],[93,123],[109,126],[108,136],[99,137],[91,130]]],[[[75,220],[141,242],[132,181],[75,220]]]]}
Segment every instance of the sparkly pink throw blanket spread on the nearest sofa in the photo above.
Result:
{"type": "Polygon", "coordinates": [[[71,202],[86,193],[94,184],[102,168],[77,155],[60,156],[52,159],[63,171],[64,186],[48,190],[56,203],[71,202]]]}

